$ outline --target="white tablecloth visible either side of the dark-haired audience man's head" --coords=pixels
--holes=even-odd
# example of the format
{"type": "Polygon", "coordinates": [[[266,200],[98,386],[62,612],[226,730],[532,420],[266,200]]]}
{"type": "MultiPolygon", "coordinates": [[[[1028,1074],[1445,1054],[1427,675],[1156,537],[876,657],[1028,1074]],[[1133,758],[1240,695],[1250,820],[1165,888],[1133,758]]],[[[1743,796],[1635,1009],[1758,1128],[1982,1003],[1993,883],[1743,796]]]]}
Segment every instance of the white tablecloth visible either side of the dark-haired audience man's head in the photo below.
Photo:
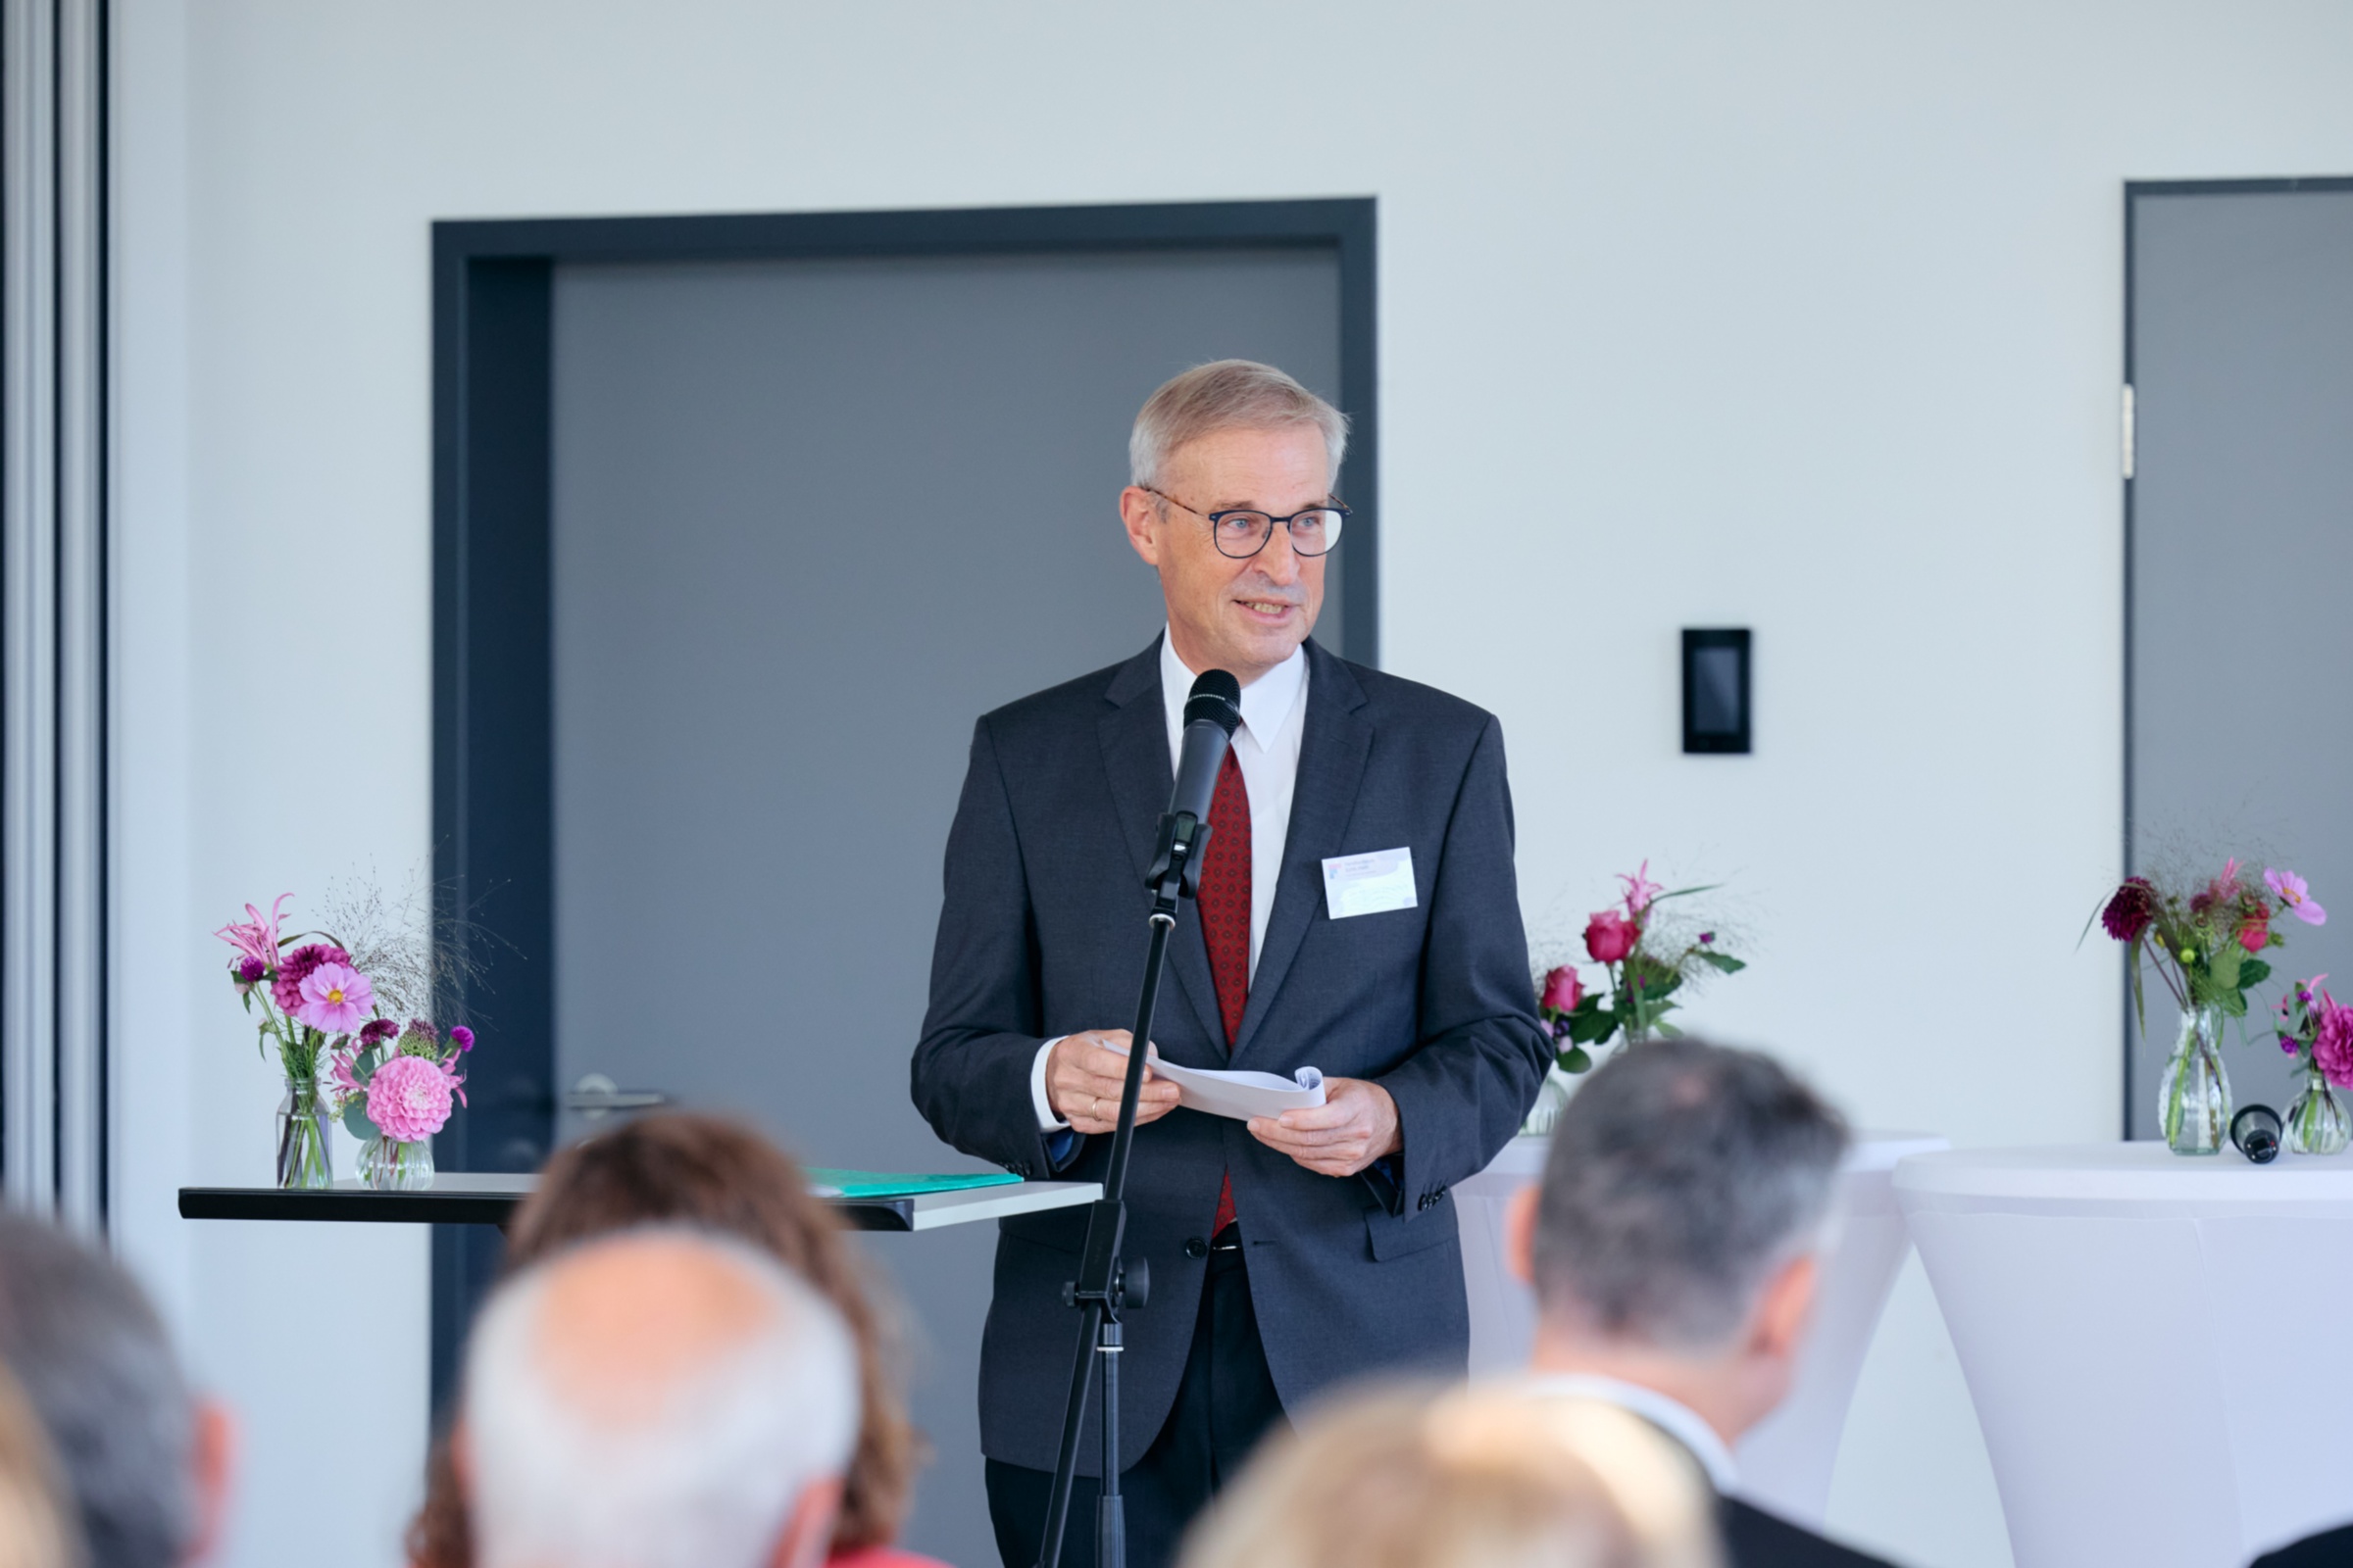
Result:
{"type": "MultiPolygon", "coordinates": [[[[1513,1138],[1485,1171],[1454,1182],[1464,1237],[1464,1286],[1471,1293],[1471,1375],[1527,1363],[1537,1333],[1537,1298],[1504,1262],[1504,1208],[1544,1171],[1546,1138],[1513,1138]]],[[[1807,1335],[1798,1387],[1739,1446],[1741,1493],[1788,1519],[1821,1523],[1831,1502],[1838,1434],[1847,1425],[1854,1380],[1871,1333],[1911,1241],[1889,1173],[1906,1154],[1946,1147],[1922,1133],[1864,1133],[1840,1180],[1845,1225],[1821,1276],[1821,1300],[1807,1335]]]]}

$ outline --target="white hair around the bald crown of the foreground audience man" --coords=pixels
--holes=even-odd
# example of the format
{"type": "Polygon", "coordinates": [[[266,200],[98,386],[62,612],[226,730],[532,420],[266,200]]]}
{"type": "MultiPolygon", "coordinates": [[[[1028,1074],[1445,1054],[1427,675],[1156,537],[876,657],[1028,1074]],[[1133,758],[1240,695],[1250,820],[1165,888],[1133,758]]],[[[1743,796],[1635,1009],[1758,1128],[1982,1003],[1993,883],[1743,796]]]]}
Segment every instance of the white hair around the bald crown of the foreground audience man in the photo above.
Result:
{"type": "Polygon", "coordinates": [[[504,1284],[475,1326],[466,1436],[478,1561],[755,1568],[774,1552],[800,1493],[842,1474],[856,1432],[849,1331],[774,1258],[675,1227],[588,1241],[504,1284]],[[558,1387],[539,1354],[551,1281],[584,1258],[656,1237],[718,1260],[765,1312],[736,1342],[675,1366],[647,1403],[558,1387]]]}

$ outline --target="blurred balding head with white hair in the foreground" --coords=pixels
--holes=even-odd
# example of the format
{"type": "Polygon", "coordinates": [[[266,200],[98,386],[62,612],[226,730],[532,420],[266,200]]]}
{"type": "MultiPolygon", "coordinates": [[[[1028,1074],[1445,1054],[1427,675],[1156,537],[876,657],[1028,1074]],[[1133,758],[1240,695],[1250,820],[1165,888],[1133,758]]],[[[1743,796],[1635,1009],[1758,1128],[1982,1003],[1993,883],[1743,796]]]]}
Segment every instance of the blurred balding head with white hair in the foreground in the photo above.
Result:
{"type": "Polygon", "coordinates": [[[499,1286],[459,1472],[485,1568],[824,1561],[859,1427],[833,1307],[741,1241],[640,1229],[499,1286]]]}

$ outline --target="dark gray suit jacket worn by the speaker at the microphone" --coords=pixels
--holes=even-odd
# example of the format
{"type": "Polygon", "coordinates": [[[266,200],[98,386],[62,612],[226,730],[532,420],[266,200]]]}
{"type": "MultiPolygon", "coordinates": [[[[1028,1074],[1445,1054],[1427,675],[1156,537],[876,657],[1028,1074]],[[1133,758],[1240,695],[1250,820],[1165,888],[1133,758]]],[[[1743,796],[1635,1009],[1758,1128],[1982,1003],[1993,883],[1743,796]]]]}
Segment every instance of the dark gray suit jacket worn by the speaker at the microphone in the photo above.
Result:
{"type": "MultiPolygon", "coordinates": [[[[1054,1166],[1031,1107],[1040,1041],[1134,1023],[1144,872],[1172,769],[1160,644],[986,715],[948,832],[915,1107],[1026,1178],[1099,1180],[1111,1138],[1054,1166]]],[[[1513,882],[1511,788],[1492,715],[1308,644],[1308,710],[1282,882],[1228,1058],[1200,917],[1169,943],[1153,1041],[1191,1067],[1374,1079],[1398,1103],[1388,1171],[1315,1175],[1240,1121],[1176,1110],[1136,1131],[1120,1453],[1151,1446],[1193,1340],[1219,1175],[1233,1173],[1266,1363],[1287,1408],[1379,1368],[1461,1373],[1461,1244],[1447,1187],[1518,1131],[1551,1060],[1513,882]],[[1417,907],[1327,919],[1322,860],[1409,846],[1417,907]]],[[[1064,1143],[1071,1143],[1064,1135],[1064,1143]]],[[[1052,1469],[1078,1314],[1085,1211],[1000,1220],[981,1340],[981,1450],[1052,1469]]],[[[1089,1401],[1089,1425],[1094,1406],[1089,1401]]],[[[1080,1448],[1094,1474],[1096,1439],[1080,1448]]]]}

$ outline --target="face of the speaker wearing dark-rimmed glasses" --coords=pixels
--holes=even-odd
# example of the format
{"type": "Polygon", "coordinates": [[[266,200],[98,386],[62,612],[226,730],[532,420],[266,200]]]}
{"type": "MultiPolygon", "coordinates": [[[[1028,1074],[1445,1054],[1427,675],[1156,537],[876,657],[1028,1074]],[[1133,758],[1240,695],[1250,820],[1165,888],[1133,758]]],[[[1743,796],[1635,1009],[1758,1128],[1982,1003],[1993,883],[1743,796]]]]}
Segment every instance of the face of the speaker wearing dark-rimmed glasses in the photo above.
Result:
{"type": "Polygon", "coordinates": [[[1315,630],[1325,557],[1294,555],[1292,531],[1275,527],[1264,550],[1233,559],[1219,552],[1200,512],[1289,517],[1329,501],[1322,430],[1217,430],[1179,447],[1158,489],[1181,505],[1129,484],[1120,520],[1136,555],[1160,569],[1176,658],[1188,670],[1231,670],[1247,686],[1315,630]]]}

